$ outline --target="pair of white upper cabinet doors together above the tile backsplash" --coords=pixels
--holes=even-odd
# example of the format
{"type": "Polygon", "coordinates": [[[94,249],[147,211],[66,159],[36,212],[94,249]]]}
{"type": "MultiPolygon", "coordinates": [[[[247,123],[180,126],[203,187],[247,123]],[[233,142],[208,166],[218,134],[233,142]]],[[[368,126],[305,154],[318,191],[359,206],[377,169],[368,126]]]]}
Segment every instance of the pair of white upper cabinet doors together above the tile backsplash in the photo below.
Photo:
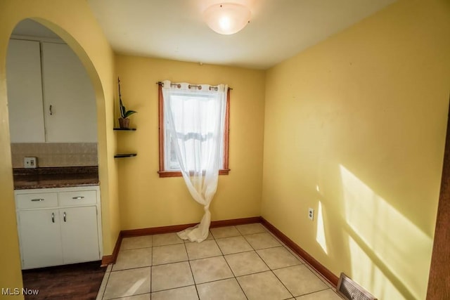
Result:
{"type": "Polygon", "coordinates": [[[96,143],[91,80],[66,44],[11,39],[6,80],[11,143],[96,143]]]}

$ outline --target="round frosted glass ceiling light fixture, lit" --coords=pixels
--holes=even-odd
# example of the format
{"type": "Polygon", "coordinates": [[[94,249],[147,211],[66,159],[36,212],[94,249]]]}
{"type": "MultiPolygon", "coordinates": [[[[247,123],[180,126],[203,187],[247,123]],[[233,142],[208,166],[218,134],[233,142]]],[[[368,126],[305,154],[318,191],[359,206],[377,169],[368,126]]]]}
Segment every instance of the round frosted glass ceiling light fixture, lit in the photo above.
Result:
{"type": "Polygon", "coordinates": [[[250,9],[236,3],[214,4],[203,16],[206,24],[219,34],[235,34],[250,22],[250,9]]]}

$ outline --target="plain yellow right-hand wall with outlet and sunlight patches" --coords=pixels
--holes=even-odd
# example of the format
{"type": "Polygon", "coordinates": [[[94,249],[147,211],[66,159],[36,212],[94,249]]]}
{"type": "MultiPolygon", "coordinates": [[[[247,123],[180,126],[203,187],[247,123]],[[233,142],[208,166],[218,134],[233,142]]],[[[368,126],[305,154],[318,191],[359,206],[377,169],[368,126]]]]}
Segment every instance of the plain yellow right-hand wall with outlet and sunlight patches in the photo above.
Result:
{"type": "Polygon", "coordinates": [[[267,71],[262,216],[379,299],[425,299],[449,37],[449,1],[399,1],[267,71]]]}

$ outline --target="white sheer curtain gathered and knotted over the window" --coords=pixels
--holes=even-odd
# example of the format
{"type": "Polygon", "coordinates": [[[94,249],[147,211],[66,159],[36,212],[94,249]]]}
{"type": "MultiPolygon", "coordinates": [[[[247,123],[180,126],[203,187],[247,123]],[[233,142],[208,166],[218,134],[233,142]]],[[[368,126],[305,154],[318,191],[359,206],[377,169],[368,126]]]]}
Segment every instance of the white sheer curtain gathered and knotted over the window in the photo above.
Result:
{"type": "Polygon", "coordinates": [[[202,242],[209,233],[210,203],[217,190],[224,142],[228,86],[172,84],[163,81],[165,126],[171,150],[194,200],[203,205],[200,223],[178,233],[191,242],[202,242]]]}

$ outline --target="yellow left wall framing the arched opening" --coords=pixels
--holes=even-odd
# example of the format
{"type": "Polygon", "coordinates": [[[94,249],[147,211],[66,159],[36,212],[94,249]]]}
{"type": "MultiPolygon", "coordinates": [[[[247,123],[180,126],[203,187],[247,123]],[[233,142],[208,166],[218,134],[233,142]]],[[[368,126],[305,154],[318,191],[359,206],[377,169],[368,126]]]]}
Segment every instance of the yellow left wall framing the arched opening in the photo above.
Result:
{"type": "Polygon", "coordinates": [[[116,143],[113,128],[115,89],[113,51],[84,0],[0,1],[0,287],[21,287],[20,256],[13,198],[13,177],[6,98],[6,49],[15,25],[33,18],[60,35],[81,58],[94,84],[98,114],[99,176],[103,212],[103,254],[111,254],[120,230],[116,143]]]}

